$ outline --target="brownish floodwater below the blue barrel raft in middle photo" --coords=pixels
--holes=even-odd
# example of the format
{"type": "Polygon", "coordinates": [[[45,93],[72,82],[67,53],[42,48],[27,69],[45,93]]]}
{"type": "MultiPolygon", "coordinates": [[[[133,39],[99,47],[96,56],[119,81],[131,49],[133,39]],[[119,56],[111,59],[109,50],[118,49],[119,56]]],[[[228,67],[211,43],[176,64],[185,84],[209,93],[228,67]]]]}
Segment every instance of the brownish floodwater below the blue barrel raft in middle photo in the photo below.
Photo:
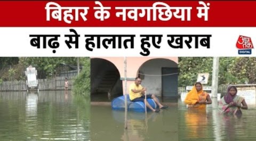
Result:
{"type": "Polygon", "coordinates": [[[178,108],[171,106],[159,113],[113,111],[111,106],[91,106],[92,140],[178,140],[178,108]]]}

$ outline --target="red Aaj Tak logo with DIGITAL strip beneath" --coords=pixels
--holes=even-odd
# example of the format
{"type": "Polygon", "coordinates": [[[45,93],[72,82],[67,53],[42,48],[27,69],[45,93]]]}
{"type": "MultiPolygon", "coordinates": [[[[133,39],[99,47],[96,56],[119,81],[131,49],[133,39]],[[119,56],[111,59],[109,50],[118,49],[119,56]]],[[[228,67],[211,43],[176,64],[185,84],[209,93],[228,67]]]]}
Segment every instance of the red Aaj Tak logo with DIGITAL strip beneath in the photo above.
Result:
{"type": "Polygon", "coordinates": [[[236,48],[238,49],[238,54],[252,54],[252,40],[251,37],[239,36],[236,48]]]}

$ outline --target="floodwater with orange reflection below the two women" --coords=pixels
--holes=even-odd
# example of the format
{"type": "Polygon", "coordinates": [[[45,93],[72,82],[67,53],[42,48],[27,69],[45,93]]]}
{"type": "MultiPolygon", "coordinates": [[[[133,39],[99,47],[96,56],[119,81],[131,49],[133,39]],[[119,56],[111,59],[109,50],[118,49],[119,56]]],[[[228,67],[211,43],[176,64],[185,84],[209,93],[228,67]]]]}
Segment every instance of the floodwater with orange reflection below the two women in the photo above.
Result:
{"type": "Polygon", "coordinates": [[[179,140],[255,140],[255,105],[242,110],[242,117],[218,113],[218,109],[208,106],[205,112],[190,111],[179,105],[179,140]]]}

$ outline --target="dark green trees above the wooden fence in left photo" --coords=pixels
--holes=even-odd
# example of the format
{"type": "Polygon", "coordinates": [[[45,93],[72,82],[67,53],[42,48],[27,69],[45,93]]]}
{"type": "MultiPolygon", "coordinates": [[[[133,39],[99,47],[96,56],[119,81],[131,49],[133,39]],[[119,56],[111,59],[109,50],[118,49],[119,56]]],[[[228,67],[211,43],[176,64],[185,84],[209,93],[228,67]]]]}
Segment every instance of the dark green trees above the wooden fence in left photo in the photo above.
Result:
{"type": "Polygon", "coordinates": [[[55,77],[61,64],[76,65],[76,57],[0,57],[0,78],[4,81],[25,80],[26,67],[36,67],[38,78],[55,77]]]}

